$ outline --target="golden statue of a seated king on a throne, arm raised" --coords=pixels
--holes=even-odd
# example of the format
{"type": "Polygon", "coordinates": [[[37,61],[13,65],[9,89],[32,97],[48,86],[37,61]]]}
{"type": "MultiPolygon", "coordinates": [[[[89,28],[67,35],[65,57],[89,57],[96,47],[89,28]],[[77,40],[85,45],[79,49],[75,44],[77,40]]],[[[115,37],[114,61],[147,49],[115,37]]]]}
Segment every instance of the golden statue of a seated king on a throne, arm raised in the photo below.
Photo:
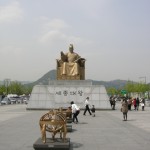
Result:
{"type": "Polygon", "coordinates": [[[69,52],[61,51],[61,59],[57,60],[58,80],[84,80],[85,59],[74,52],[73,44],[69,46],[69,52]]]}

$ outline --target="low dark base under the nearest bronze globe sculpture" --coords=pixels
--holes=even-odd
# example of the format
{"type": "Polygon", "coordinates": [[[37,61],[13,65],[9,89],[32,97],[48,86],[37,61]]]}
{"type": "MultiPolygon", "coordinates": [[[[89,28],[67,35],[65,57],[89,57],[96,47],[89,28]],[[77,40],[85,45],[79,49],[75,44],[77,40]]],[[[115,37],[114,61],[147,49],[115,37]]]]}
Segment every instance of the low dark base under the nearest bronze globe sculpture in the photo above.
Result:
{"type": "Polygon", "coordinates": [[[70,149],[70,139],[67,138],[66,142],[62,139],[56,138],[55,142],[51,138],[46,139],[46,143],[43,143],[41,138],[33,144],[35,150],[69,150],[70,149]]]}

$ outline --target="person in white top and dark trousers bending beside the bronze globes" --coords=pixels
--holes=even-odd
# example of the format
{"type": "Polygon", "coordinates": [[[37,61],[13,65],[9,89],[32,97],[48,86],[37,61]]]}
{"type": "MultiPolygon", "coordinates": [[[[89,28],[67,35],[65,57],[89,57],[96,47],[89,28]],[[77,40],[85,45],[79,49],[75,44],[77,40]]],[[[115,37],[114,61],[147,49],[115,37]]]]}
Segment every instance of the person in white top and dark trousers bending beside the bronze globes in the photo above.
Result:
{"type": "Polygon", "coordinates": [[[72,118],[72,122],[74,123],[78,123],[78,115],[80,113],[80,108],[74,104],[74,101],[71,102],[71,109],[72,109],[72,115],[73,115],[73,118],[72,118]],[[76,120],[76,122],[75,122],[76,120]]]}

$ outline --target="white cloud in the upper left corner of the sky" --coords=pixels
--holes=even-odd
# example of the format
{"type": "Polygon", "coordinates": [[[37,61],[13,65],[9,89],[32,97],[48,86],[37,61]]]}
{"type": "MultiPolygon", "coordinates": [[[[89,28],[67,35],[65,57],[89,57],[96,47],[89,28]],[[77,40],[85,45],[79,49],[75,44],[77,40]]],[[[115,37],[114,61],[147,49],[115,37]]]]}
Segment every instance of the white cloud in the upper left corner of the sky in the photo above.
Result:
{"type": "Polygon", "coordinates": [[[0,6],[0,23],[22,20],[23,12],[18,2],[0,6]]]}

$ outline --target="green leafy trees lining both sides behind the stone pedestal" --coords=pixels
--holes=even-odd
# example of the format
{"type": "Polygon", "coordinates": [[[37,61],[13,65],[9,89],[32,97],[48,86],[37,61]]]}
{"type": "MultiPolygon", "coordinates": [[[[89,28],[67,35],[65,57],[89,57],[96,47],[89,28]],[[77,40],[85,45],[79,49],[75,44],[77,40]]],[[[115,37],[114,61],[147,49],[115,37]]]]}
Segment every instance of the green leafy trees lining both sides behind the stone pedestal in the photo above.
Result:
{"type": "MultiPolygon", "coordinates": [[[[32,92],[33,86],[26,86],[17,81],[12,81],[9,85],[0,85],[0,95],[7,94],[17,94],[17,95],[29,95],[32,92]]],[[[133,83],[128,81],[123,88],[108,87],[106,88],[108,95],[123,95],[127,94],[130,96],[130,93],[146,93],[150,91],[149,84],[143,83],[133,83]],[[122,90],[126,93],[122,93],[122,90]]],[[[148,95],[149,96],[149,95],[148,95]]]]}

